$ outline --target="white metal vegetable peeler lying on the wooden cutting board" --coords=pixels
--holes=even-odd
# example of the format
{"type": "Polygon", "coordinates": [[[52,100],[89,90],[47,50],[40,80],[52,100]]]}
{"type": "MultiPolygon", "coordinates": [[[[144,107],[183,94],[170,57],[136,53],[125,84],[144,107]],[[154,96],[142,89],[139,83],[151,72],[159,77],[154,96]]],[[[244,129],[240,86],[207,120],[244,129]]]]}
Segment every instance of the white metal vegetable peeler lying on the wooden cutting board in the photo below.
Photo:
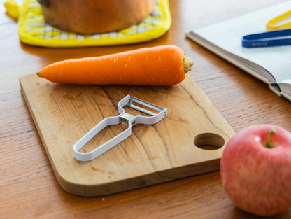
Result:
{"type": "Polygon", "coordinates": [[[134,125],[136,124],[152,125],[165,118],[167,115],[167,109],[155,106],[154,104],[150,104],[136,97],[131,97],[130,95],[127,95],[125,98],[118,102],[118,113],[120,113],[120,115],[104,118],[104,120],[101,120],[101,122],[99,122],[95,127],[93,127],[89,132],[87,132],[85,136],[83,136],[79,141],[77,141],[73,145],[73,156],[75,157],[76,160],[82,162],[94,160],[96,157],[99,157],[107,150],[110,150],[121,141],[127,139],[127,137],[129,137],[132,134],[132,127],[134,125]],[[133,103],[139,104],[139,106],[133,103]],[[129,108],[134,108],[136,111],[146,113],[150,116],[131,115],[125,112],[125,109],[123,108],[125,106],[128,106],[129,108]],[[142,108],[141,106],[145,106],[146,108],[150,108],[159,113],[149,111],[146,108],[142,108]],[[101,132],[102,129],[109,125],[118,125],[122,122],[127,122],[128,128],[125,129],[120,134],[118,134],[117,136],[113,137],[113,139],[106,141],[106,143],[102,144],[98,148],[95,148],[94,150],[91,150],[90,152],[83,153],[79,151],[81,148],[83,148],[83,146],[85,146],[85,144],[88,141],[90,141],[94,136],[101,132]]]}

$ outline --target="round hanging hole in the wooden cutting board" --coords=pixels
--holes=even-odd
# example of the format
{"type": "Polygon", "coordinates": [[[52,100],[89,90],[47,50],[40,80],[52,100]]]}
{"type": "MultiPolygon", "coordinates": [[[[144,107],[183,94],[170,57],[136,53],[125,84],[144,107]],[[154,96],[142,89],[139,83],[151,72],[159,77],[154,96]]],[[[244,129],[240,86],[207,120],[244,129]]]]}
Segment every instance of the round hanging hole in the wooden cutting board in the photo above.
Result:
{"type": "Polygon", "coordinates": [[[194,137],[194,145],[203,150],[218,150],[225,145],[225,139],[215,133],[201,133],[194,137]]]}

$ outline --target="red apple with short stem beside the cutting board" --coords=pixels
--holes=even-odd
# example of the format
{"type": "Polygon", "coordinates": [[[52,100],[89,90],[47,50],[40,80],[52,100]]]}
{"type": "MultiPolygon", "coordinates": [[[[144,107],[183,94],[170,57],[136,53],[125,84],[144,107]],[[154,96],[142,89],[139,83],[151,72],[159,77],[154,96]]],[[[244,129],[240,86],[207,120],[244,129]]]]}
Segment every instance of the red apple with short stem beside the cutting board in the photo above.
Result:
{"type": "Polygon", "coordinates": [[[259,216],[286,211],[291,206],[291,133],[276,125],[242,129],[225,146],[220,174],[239,209],[259,216]]]}

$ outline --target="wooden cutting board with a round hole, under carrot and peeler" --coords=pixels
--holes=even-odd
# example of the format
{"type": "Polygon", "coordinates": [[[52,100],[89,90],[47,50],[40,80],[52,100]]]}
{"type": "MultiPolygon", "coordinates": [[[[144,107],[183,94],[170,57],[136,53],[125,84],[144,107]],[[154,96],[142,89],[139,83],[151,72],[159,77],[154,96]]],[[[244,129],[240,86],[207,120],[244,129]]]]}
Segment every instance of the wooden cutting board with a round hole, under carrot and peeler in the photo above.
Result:
{"type": "MultiPolygon", "coordinates": [[[[217,170],[234,135],[190,76],[171,87],[140,87],[58,85],[31,74],[20,78],[20,86],[57,180],[74,195],[108,195],[217,170]],[[167,117],[135,125],[129,138],[95,160],[75,160],[73,144],[103,118],[118,115],[118,101],[127,94],[167,108],[167,117]]],[[[106,127],[81,150],[125,128],[106,127]]]]}

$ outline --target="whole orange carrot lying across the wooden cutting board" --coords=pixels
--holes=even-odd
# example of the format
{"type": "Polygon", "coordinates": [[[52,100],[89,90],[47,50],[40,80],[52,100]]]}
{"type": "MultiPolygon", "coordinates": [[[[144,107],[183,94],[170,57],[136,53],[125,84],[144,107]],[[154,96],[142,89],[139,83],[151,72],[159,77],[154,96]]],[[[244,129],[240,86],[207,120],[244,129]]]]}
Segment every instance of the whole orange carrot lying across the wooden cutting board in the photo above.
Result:
{"type": "Polygon", "coordinates": [[[175,45],[141,48],[100,57],[68,59],[48,65],[38,76],[79,85],[176,85],[192,68],[175,45]]]}

